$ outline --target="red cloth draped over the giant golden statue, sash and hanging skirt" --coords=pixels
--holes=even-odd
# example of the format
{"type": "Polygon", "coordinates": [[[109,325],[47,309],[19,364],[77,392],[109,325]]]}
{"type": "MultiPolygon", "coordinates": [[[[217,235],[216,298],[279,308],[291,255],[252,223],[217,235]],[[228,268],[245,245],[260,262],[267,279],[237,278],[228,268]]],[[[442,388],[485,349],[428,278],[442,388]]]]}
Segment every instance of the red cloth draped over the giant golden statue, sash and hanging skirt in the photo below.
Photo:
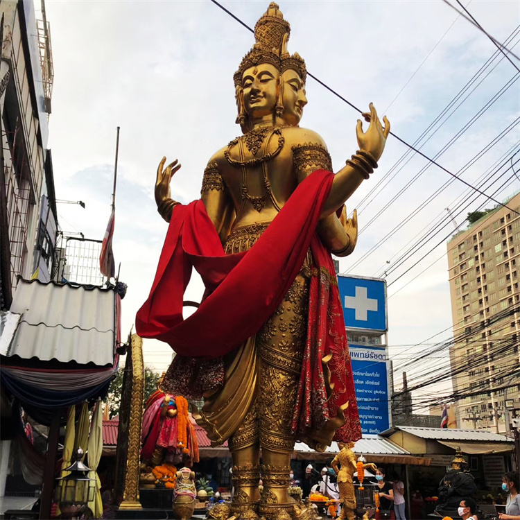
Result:
{"type": "Polygon", "coordinates": [[[237,254],[224,253],[201,200],[175,206],[150,295],[136,317],[139,336],[171,345],[179,354],[177,365],[183,356],[186,367],[193,367],[193,358],[204,363],[223,356],[259,331],[311,247],[315,268],[308,337],[293,419],[300,440],[337,417],[336,440],[361,438],[336,275],[331,255],[315,233],[332,181],[331,172],[309,175],[257,243],[237,254]],[[192,267],[202,277],[206,294],[197,311],[184,320],[183,295],[192,267]]]}

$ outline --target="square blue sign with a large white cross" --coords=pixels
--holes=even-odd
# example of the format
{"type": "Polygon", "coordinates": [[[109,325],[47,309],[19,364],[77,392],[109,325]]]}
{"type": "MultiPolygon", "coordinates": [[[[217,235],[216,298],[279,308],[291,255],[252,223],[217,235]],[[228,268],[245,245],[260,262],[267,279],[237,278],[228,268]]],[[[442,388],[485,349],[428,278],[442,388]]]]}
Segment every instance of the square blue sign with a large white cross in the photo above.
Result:
{"type": "Polygon", "coordinates": [[[388,330],[385,280],[339,275],[338,288],[347,330],[388,330]]]}

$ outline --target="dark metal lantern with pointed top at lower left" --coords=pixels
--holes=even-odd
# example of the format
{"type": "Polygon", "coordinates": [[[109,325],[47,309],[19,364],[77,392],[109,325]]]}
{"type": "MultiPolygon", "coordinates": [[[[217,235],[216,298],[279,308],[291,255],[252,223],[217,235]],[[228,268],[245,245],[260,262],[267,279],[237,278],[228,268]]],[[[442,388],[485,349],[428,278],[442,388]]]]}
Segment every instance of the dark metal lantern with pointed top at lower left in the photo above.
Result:
{"type": "Polygon", "coordinates": [[[93,478],[87,473],[92,471],[81,459],[83,449],[76,451],[76,460],[63,471],[69,471],[64,477],[57,478],[55,500],[60,503],[63,519],[79,518],[87,508],[87,503],[94,500],[94,487],[90,485],[93,478]]]}

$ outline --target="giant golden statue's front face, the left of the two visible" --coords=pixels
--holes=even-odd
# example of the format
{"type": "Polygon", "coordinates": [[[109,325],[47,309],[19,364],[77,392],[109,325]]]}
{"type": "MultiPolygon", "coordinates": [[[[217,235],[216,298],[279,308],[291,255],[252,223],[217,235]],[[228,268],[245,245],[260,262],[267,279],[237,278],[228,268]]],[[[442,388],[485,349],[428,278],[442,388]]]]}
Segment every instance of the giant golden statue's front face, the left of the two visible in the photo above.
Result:
{"type": "Polygon", "coordinates": [[[279,72],[269,63],[247,69],[242,75],[245,112],[252,117],[275,112],[279,72]]]}

